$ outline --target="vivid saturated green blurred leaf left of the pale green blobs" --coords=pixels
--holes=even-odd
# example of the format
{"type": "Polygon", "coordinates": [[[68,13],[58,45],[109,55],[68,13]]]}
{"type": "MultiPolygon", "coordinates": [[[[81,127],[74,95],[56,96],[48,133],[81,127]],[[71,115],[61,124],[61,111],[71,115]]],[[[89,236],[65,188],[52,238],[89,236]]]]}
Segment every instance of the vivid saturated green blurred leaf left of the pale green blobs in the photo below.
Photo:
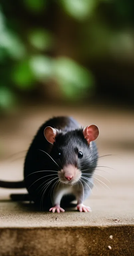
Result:
{"type": "Polygon", "coordinates": [[[14,67],[12,79],[17,87],[31,89],[34,86],[34,75],[30,69],[29,60],[22,61],[14,67]]]}

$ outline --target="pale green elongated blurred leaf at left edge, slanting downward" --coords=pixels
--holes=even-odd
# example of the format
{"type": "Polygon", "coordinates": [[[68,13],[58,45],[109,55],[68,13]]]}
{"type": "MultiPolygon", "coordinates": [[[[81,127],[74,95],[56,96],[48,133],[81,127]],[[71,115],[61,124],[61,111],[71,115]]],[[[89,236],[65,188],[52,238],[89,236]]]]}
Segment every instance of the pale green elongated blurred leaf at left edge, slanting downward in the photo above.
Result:
{"type": "Polygon", "coordinates": [[[15,59],[20,59],[25,55],[25,47],[19,37],[9,31],[0,33],[0,47],[6,49],[8,54],[15,59]]]}

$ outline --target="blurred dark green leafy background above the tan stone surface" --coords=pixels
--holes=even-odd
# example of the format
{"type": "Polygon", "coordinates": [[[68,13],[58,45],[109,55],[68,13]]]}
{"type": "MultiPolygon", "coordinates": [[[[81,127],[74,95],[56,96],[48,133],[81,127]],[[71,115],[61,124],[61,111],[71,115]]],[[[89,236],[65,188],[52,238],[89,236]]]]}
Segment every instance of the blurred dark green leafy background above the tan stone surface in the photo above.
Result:
{"type": "Polygon", "coordinates": [[[133,13],[130,0],[1,0],[0,111],[133,105],[133,13]]]}

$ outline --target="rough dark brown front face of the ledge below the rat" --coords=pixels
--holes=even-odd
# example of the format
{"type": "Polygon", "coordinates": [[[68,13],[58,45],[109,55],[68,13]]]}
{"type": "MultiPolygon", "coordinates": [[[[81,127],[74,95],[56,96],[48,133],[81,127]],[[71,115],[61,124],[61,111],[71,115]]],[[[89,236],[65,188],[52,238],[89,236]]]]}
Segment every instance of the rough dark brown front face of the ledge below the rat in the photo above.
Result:
{"type": "Polygon", "coordinates": [[[1,256],[132,256],[133,243],[134,226],[0,228],[1,256]]]}

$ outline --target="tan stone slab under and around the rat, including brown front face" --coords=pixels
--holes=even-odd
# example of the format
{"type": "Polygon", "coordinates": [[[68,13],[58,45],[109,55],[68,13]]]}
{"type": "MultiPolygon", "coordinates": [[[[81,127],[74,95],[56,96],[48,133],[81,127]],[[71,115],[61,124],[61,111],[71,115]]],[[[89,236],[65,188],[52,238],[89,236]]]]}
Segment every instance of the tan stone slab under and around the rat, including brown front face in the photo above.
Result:
{"type": "Polygon", "coordinates": [[[34,108],[34,111],[23,109],[19,115],[16,113],[12,118],[1,120],[0,178],[23,178],[24,150],[36,130],[52,115],[63,114],[73,116],[83,126],[98,125],[99,155],[111,154],[99,158],[96,174],[104,178],[94,175],[101,182],[94,181],[98,190],[94,187],[93,194],[85,201],[92,213],[80,213],[75,209],[60,214],[40,212],[33,204],[9,199],[10,193],[26,193],[25,189],[0,189],[0,255],[134,255],[133,112],[94,106],[48,107],[47,111],[46,107],[34,108]],[[20,153],[9,158],[16,152],[20,153]]]}

